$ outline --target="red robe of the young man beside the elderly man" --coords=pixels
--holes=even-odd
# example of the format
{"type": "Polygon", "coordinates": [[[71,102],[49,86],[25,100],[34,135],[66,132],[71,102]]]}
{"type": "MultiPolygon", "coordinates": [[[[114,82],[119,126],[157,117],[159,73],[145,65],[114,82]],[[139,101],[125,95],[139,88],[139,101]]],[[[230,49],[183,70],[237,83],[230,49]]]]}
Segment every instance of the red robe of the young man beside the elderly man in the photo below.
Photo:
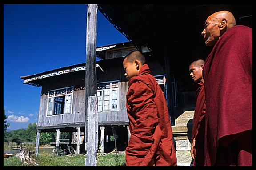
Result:
{"type": "Polygon", "coordinates": [[[196,107],[193,118],[192,141],[195,138],[194,166],[204,166],[204,129],[205,129],[205,93],[204,83],[198,83],[196,90],[196,107]]]}

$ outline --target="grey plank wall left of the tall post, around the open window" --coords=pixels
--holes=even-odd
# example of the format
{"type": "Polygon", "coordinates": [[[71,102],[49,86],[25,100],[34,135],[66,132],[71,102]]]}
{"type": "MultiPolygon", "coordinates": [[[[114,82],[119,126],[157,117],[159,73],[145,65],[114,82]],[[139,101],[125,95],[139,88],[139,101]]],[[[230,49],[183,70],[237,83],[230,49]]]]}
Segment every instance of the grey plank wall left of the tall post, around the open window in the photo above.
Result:
{"type": "MultiPolygon", "coordinates": [[[[48,83],[42,87],[42,93],[40,97],[39,114],[38,114],[38,128],[45,127],[61,127],[65,124],[77,124],[84,123],[85,121],[85,88],[83,87],[84,81],[83,74],[75,75],[75,73],[69,73],[71,75],[57,76],[55,79],[48,80],[48,83]],[[74,87],[72,95],[72,113],[61,115],[47,115],[48,104],[48,91],[62,87],[74,87]]],[[[76,126],[75,126],[76,127],[76,126]]]]}

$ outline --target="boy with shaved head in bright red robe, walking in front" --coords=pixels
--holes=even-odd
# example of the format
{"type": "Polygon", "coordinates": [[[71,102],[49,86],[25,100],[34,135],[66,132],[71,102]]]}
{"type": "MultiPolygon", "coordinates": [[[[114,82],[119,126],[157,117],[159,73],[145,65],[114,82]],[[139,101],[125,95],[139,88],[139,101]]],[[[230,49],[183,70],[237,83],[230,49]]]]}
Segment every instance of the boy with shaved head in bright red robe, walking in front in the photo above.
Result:
{"type": "Polygon", "coordinates": [[[131,137],[126,148],[126,166],[176,166],[172,127],[163,91],[145,64],[133,51],[123,62],[129,80],[127,114],[131,137]]]}

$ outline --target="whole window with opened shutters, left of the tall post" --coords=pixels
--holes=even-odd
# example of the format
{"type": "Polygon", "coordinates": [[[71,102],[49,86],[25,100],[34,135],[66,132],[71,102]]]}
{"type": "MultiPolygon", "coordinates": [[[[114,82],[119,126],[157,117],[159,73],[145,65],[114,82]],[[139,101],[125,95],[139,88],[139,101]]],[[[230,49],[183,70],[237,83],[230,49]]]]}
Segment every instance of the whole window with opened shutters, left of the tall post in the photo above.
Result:
{"type": "Polygon", "coordinates": [[[71,114],[73,87],[49,91],[47,116],[71,114]]]}

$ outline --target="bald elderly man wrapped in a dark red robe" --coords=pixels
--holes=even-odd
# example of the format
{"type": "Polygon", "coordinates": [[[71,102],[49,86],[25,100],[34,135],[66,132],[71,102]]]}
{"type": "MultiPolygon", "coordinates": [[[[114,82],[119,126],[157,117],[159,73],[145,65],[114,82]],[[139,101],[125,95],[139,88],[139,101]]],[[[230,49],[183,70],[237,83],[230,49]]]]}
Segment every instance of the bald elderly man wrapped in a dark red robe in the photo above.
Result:
{"type": "Polygon", "coordinates": [[[209,16],[202,35],[214,46],[204,64],[205,166],[252,165],[252,29],[231,12],[209,16]]]}

